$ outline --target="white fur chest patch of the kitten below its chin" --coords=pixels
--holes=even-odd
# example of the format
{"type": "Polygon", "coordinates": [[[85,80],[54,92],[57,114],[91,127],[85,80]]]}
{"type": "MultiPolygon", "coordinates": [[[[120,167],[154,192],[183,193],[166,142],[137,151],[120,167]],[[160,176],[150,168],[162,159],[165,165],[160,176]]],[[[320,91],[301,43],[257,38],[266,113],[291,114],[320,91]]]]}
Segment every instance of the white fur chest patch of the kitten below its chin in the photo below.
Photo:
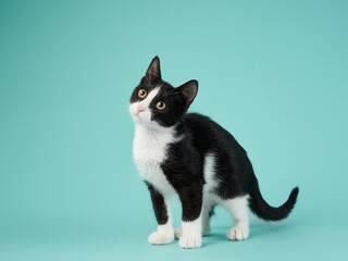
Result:
{"type": "Polygon", "coordinates": [[[162,194],[175,192],[161,169],[161,163],[166,159],[167,145],[174,141],[173,129],[159,132],[136,125],[133,144],[135,163],[140,177],[162,194]]]}

